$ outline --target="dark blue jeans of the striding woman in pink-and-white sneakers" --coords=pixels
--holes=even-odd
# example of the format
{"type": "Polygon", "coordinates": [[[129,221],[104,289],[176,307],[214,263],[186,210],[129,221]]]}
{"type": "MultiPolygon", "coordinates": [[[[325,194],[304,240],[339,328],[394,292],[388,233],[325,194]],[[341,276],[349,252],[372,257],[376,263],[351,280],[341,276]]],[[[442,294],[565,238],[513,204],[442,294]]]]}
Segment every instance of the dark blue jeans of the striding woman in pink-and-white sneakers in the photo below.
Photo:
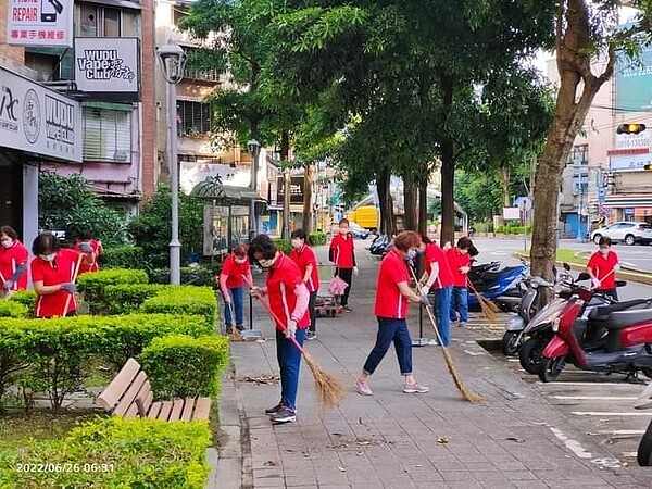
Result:
{"type": "Polygon", "coordinates": [[[364,362],[363,371],[372,375],[393,341],[401,375],[412,374],[412,338],[410,338],[408,323],[405,319],[391,317],[377,317],[377,319],[376,344],[374,344],[369,356],[364,362]]]}

